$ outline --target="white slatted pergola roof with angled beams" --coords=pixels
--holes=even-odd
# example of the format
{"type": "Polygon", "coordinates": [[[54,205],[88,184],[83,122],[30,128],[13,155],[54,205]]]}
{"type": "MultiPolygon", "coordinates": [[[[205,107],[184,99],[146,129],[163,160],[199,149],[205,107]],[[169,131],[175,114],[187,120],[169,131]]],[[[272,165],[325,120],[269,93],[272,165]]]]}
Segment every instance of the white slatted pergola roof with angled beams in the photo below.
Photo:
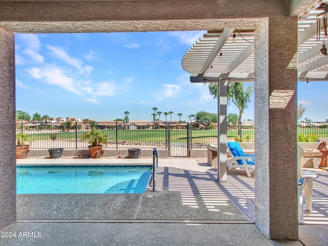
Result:
{"type": "MultiPolygon", "coordinates": [[[[298,80],[326,80],[328,48],[323,10],[318,1],[298,18],[298,80]],[[318,32],[320,25],[320,35],[318,32]]],[[[227,77],[233,82],[254,81],[254,30],[225,28],[208,31],[183,56],[181,66],[191,74],[191,83],[217,82],[227,77]],[[235,38],[234,38],[235,36],[235,38]]]]}

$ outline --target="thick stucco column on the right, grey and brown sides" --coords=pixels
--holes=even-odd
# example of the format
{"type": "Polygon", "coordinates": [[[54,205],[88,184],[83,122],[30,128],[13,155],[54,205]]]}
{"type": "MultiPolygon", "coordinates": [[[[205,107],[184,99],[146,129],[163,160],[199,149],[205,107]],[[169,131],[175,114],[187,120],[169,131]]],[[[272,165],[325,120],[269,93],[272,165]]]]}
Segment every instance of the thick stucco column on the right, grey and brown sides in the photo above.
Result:
{"type": "Polygon", "coordinates": [[[255,32],[256,226],[298,239],[297,17],[265,19],[255,32]]]}

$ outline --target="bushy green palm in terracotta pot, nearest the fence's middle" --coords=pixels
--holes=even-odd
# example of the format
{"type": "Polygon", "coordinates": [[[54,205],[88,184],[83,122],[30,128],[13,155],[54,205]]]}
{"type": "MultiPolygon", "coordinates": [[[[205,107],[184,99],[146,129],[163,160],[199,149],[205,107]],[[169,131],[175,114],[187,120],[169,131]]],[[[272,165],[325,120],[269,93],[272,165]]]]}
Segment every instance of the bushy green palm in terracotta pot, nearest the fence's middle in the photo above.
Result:
{"type": "Polygon", "coordinates": [[[90,144],[88,148],[91,158],[100,158],[101,149],[103,147],[101,144],[107,145],[108,136],[104,135],[104,132],[92,127],[91,131],[87,131],[82,135],[81,140],[88,140],[90,144]]]}

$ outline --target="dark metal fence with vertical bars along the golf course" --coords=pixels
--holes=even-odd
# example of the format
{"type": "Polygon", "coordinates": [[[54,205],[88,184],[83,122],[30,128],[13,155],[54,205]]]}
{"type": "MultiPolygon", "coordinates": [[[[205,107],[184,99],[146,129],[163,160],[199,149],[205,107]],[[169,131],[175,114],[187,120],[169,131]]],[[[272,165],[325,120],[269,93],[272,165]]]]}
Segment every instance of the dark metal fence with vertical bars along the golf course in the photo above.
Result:
{"type": "MultiPolygon", "coordinates": [[[[327,122],[298,122],[298,135],[317,135],[328,137],[327,122]]],[[[253,121],[229,122],[227,128],[228,141],[254,142],[253,121]]],[[[59,122],[56,124],[33,124],[19,122],[16,132],[24,131],[34,139],[30,148],[87,148],[89,143],[81,141],[84,132],[91,126],[83,122],[59,122]]],[[[129,122],[101,123],[99,131],[108,136],[108,144],[103,148],[165,148],[176,146],[207,148],[209,142],[217,141],[217,123],[192,122],[129,122]]],[[[316,136],[314,136],[316,137],[316,136]]],[[[174,151],[173,149],[171,151],[174,151]]]]}

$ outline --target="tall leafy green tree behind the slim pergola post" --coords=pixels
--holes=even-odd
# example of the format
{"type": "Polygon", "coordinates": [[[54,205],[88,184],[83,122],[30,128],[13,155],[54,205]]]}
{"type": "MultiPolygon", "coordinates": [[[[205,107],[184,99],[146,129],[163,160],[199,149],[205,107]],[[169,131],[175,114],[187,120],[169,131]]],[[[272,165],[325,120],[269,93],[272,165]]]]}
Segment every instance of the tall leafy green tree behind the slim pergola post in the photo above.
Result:
{"type": "MultiPolygon", "coordinates": [[[[213,98],[217,97],[217,83],[210,83],[209,90],[210,94],[213,96],[213,98]]],[[[248,104],[251,101],[251,95],[254,91],[253,86],[248,86],[244,88],[243,83],[229,83],[227,88],[227,95],[228,95],[228,105],[230,104],[230,101],[236,105],[236,107],[239,110],[239,119],[238,121],[241,121],[241,115],[244,112],[245,109],[248,108],[248,104]]],[[[241,124],[238,128],[238,135],[241,133],[241,124]]]]}

